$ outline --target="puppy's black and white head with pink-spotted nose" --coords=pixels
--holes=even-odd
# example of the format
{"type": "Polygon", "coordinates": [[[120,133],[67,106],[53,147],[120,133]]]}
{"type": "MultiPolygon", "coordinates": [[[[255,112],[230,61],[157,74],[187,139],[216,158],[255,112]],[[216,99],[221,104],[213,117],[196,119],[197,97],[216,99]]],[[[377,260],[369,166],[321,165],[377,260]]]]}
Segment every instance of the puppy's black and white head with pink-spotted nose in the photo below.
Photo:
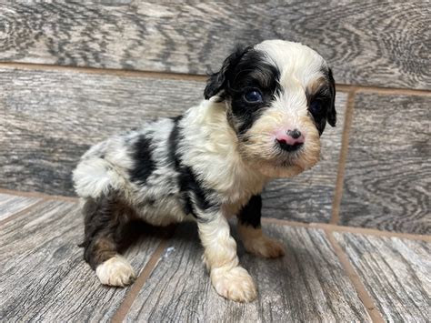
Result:
{"type": "Polygon", "coordinates": [[[206,99],[226,102],[241,156],[268,177],[316,164],[326,122],[336,125],[335,96],[325,60],[281,40],[236,51],[205,87],[206,99]]]}

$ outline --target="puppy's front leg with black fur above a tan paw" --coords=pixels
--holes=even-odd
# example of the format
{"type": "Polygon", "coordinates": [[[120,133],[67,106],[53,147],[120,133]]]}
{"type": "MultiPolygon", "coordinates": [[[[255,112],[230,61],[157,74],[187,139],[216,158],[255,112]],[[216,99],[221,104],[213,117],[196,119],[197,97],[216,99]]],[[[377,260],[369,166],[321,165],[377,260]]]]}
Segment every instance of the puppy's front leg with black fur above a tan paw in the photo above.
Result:
{"type": "Polygon", "coordinates": [[[266,237],[260,225],[262,198],[251,197],[238,214],[238,233],[246,251],[260,257],[280,257],[285,247],[276,239],[266,237]]]}

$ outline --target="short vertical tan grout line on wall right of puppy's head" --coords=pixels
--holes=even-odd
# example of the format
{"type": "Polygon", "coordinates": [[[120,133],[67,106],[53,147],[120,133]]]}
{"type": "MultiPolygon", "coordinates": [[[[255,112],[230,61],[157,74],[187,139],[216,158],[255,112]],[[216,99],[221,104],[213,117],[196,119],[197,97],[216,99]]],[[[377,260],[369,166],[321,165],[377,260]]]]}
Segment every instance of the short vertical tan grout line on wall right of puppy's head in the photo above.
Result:
{"type": "Polygon", "coordinates": [[[353,87],[347,96],[346,116],[341,137],[341,149],[338,159],[338,169],[336,173],[336,188],[331,207],[331,217],[329,223],[337,224],[340,219],[341,198],[343,197],[344,179],[346,174],[346,160],[348,154],[349,136],[353,122],[355,108],[356,88],[353,87]]]}

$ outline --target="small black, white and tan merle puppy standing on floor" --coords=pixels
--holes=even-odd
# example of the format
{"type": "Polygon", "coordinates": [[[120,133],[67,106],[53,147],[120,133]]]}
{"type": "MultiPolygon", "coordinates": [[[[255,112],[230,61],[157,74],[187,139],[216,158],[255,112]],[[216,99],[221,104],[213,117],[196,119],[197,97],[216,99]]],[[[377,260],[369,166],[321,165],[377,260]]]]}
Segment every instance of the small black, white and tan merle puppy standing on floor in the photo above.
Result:
{"type": "Polygon", "coordinates": [[[85,260],[102,284],[135,271],[118,254],[125,224],[197,222],[216,292],[251,301],[256,286],[236,256],[226,217],[238,217],[246,250],[279,257],[260,225],[266,183],[313,167],[326,122],[336,125],[331,69],[314,50],[269,40],[237,50],[207,81],[205,100],[183,116],[145,123],[91,147],[74,172],[83,201],[85,260]]]}

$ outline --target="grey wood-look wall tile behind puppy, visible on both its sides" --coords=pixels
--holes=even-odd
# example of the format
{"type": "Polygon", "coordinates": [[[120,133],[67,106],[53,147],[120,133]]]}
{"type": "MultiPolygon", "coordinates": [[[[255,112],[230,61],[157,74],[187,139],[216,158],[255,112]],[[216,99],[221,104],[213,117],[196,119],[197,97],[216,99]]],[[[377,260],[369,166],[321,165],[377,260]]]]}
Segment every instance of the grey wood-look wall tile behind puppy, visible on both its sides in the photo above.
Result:
{"type": "MultiPolygon", "coordinates": [[[[0,187],[74,195],[71,172],[90,145],[144,120],[181,114],[201,100],[203,88],[195,81],[0,70],[0,187]]],[[[270,184],[264,216],[330,217],[345,105],[346,94],[339,93],[338,125],[322,136],[323,161],[270,184]]]]}

